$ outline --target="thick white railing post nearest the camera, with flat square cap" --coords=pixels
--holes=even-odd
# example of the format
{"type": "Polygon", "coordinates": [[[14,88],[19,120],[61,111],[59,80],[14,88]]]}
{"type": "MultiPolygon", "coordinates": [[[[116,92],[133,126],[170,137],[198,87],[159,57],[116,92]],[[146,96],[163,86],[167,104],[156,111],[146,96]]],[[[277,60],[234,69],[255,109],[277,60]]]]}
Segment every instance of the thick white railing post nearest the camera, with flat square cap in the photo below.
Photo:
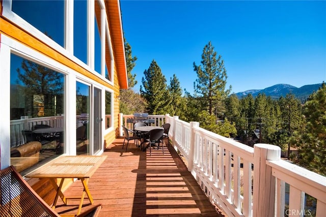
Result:
{"type": "MultiPolygon", "coordinates": [[[[254,145],[253,216],[274,216],[276,179],[266,160],[281,159],[281,148],[270,144],[254,145]]],[[[246,200],[246,199],[244,199],[246,200]]]]}

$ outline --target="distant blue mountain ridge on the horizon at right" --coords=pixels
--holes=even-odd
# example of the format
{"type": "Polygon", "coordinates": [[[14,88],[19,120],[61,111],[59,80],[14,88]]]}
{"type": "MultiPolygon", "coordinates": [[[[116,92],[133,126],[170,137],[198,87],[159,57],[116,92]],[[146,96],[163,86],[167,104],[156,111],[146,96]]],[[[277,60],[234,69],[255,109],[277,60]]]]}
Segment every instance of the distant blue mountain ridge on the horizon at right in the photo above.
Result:
{"type": "Polygon", "coordinates": [[[321,83],[304,85],[300,88],[290,84],[276,84],[265,89],[251,89],[243,92],[237,92],[235,95],[241,99],[242,97],[246,97],[249,94],[251,94],[254,98],[257,97],[258,94],[265,94],[266,96],[270,96],[272,99],[279,99],[280,97],[286,97],[287,94],[291,93],[302,102],[305,102],[307,98],[314,91],[318,90],[320,86],[321,83]]]}

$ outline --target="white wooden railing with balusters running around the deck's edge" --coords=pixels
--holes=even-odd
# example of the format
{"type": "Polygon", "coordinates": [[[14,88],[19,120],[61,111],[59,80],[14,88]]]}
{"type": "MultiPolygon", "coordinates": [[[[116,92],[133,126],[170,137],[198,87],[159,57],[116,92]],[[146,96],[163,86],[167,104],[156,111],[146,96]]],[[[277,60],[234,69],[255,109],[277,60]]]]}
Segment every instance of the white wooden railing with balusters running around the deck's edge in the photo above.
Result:
{"type": "Polygon", "coordinates": [[[280,147],[256,144],[252,148],[204,130],[198,122],[188,123],[170,115],[157,117],[160,123],[171,124],[169,137],[173,147],[186,159],[188,170],[205,194],[228,216],[324,216],[326,213],[326,177],[281,160],[280,147]],[[285,183],[290,189],[288,207],[285,183]],[[305,193],[317,199],[316,214],[305,210],[305,193]]]}

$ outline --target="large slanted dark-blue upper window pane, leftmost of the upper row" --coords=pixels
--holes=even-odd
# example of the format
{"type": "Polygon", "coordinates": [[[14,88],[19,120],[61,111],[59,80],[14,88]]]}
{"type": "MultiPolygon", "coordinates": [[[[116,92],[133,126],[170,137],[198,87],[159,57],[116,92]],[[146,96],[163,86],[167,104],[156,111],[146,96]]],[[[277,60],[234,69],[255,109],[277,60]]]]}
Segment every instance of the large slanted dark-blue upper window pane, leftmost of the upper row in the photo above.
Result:
{"type": "Polygon", "coordinates": [[[12,11],[62,47],[65,46],[65,1],[15,0],[12,1],[12,11]]]}

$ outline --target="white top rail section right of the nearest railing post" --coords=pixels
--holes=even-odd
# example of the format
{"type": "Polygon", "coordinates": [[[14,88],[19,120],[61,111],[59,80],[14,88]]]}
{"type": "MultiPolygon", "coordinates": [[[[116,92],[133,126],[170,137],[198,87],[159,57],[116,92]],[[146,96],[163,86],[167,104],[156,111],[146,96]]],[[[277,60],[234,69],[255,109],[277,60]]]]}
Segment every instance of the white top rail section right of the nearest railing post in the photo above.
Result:
{"type": "Polygon", "coordinates": [[[326,177],[295,164],[280,161],[266,161],[273,175],[301,191],[326,203],[326,177]],[[273,170],[274,169],[274,170],[273,170]]]}

